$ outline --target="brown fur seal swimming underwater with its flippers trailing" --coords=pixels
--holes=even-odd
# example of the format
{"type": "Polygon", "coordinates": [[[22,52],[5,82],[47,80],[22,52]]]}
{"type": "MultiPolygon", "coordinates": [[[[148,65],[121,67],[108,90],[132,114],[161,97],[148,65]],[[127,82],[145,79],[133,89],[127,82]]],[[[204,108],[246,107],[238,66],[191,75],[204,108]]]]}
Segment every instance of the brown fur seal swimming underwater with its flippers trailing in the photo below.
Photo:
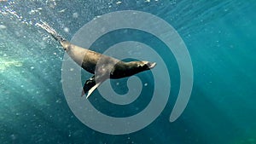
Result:
{"type": "Polygon", "coordinates": [[[102,55],[90,49],[84,49],[61,37],[45,22],[36,24],[42,27],[46,32],[58,41],[67,54],[81,66],[85,71],[94,74],[91,78],[87,79],[84,83],[82,90],[83,96],[87,93],[86,98],[108,78],[125,78],[130,77],[138,72],[143,72],[154,68],[155,62],[149,61],[131,61],[125,62],[115,59],[108,55],[102,55]]]}

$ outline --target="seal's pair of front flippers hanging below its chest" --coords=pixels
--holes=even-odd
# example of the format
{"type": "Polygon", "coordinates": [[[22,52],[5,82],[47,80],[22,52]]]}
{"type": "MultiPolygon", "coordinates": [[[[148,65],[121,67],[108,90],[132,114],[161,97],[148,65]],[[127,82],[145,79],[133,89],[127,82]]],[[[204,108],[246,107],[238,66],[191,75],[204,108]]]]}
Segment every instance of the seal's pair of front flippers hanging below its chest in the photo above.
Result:
{"type": "Polygon", "coordinates": [[[102,84],[102,82],[99,82],[96,84],[95,76],[92,76],[91,78],[86,80],[81,96],[83,96],[85,93],[87,93],[86,99],[88,99],[88,97],[92,94],[92,92],[101,84],[102,84]]]}

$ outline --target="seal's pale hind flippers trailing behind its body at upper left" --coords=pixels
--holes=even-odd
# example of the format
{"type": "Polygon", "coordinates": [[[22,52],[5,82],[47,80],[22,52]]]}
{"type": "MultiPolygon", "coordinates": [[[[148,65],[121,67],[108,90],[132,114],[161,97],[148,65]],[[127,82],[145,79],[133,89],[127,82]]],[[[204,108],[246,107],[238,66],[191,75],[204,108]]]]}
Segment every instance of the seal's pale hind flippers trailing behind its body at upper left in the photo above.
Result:
{"type": "Polygon", "coordinates": [[[41,28],[43,28],[46,32],[49,32],[49,34],[55,38],[56,41],[58,42],[63,42],[65,41],[65,39],[63,37],[61,37],[57,32],[55,32],[55,29],[53,29],[52,27],[50,27],[46,22],[41,21],[42,23],[37,23],[36,26],[39,26],[41,28]]]}

